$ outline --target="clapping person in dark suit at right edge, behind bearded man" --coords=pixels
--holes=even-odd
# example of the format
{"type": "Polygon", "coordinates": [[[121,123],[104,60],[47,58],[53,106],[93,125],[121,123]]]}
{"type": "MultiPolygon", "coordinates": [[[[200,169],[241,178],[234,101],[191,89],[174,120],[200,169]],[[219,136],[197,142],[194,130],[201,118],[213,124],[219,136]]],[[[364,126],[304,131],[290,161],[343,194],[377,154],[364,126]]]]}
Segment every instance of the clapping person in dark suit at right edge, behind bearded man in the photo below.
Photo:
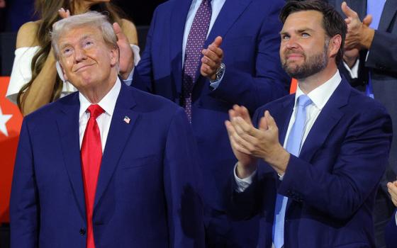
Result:
{"type": "MultiPolygon", "coordinates": [[[[380,101],[397,130],[397,0],[328,0],[347,22],[344,64],[340,66],[350,84],[380,101]]],[[[385,247],[384,228],[394,207],[386,184],[397,175],[397,132],[381,187],[376,195],[374,223],[376,247],[385,247]]]]}

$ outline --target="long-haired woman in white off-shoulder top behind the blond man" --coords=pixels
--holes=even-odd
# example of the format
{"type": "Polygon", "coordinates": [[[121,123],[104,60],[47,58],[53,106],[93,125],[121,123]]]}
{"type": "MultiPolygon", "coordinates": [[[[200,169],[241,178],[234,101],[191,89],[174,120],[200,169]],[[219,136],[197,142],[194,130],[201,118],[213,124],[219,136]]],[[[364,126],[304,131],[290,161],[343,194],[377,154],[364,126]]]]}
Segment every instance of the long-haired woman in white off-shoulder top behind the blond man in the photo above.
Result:
{"type": "MultiPolygon", "coordinates": [[[[84,13],[95,10],[108,14],[111,22],[120,24],[124,33],[127,35],[133,50],[123,50],[121,60],[129,56],[129,60],[138,62],[139,47],[136,28],[130,21],[121,18],[121,11],[109,1],[85,1],[85,0],[36,0],[35,9],[38,11],[40,20],[23,24],[18,31],[16,40],[16,57],[13,63],[9,89],[6,96],[18,103],[23,115],[31,113],[47,103],[55,101],[57,98],[70,94],[76,89],[61,79],[57,74],[55,57],[51,49],[48,38],[55,21],[66,16],[84,13]]],[[[115,25],[118,25],[115,24],[115,25]]],[[[117,28],[120,28],[119,26],[117,28]]],[[[121,63],[127,64],[127,63],[121,63]]],[[[123,79],[128,78],[126,71],[130,70],[133,62],[128,68],[120,68],[123,79]]]]}

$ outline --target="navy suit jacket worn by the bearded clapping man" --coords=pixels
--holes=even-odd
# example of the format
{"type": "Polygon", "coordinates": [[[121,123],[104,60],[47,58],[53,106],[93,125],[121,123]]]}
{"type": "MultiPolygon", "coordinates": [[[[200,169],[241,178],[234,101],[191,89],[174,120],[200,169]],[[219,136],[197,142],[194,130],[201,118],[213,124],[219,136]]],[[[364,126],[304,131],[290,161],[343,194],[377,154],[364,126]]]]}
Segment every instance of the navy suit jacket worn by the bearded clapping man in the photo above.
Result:
{"type": "MultiPolygon", "coordinates": [[[[273,115],[284,142],[294,95],[259,108],[273,115]]],[[[291,155],[280,181],[269,165],[231,199],[236,218],[262,215],[259,247],[272,244],[276,193],[289,197],[284,226],[285,247],[374,247],[372,209],[391,142],[391,119],[381,104],[352,89],[343,79],[301,149],[291,155]]],[[[235,184],[233,178],[232,183],[235,184]]]]}

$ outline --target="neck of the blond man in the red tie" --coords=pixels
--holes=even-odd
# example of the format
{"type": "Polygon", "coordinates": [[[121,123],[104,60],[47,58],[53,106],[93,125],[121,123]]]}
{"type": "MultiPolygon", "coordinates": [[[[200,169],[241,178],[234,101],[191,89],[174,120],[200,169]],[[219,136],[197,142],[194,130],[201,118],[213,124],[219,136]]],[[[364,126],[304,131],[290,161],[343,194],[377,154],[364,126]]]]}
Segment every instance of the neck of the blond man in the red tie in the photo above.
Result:
{"type": "Polygon", "coordinates": [[[92,104],[99,103],[102,100],[102,98],[104,98],[106,94],[108,94],[109,91],[111,91],[114,84],[116,84],[117,73],[111,72],[111,74],[105,81],[106,83],[104,84],[99,84],[95,87],[90,87],[89,89],[79,89],[79,91],[80,93],[82,93],[82,95],[85,98],[87,98],[87,100],[90,103],[92,104]]]}

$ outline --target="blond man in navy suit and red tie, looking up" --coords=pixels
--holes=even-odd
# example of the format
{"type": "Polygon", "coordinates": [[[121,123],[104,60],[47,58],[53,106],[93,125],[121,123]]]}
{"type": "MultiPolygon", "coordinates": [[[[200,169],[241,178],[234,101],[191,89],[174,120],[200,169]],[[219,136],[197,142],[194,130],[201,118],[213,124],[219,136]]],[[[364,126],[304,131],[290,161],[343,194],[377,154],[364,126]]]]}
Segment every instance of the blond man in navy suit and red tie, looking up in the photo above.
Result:
{"type": "Polygon", "coordinates": [[[78,92],[23,119],[11,247],[204,247],[201,176],[183,108],[118,78],[106,16],[70,16],[51,36],[78,92]]]}

